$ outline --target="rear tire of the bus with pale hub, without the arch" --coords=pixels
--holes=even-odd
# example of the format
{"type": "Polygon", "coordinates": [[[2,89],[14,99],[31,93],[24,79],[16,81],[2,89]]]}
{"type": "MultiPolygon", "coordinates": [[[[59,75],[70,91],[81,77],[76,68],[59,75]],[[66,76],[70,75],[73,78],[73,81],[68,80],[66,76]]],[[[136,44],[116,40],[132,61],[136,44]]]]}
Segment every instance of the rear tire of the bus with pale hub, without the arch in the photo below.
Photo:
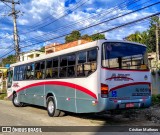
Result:
{"type": "Polygon", "coordinates": [[[56,104],[53,97],[47,99],[47,112],[50,117],[58,117],[60,111],[56,109],[56,104]]]}

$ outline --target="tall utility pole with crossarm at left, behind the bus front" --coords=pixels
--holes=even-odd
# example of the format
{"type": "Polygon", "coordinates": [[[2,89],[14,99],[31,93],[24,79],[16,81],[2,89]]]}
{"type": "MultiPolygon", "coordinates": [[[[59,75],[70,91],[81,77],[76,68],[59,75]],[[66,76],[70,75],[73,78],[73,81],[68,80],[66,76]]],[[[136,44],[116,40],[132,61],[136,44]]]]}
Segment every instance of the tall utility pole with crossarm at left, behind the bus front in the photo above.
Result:
{"type": "Polygon", "coordinates": [[[14,2],[14,0],[10,1],[10,0],[0,0],[2,2],[7,2],[7,3],[12,3],[12,12],[9,15],[12,15],[13,17],[13,40],[14,40],[14,48],[16,51],[16,61],[19,61],[19,41],[18,41],[18,31],[17,31],[17,14],[19,13],[19,11],[15,10],[15,4],[19,4],[19,2],[14,2]]]}

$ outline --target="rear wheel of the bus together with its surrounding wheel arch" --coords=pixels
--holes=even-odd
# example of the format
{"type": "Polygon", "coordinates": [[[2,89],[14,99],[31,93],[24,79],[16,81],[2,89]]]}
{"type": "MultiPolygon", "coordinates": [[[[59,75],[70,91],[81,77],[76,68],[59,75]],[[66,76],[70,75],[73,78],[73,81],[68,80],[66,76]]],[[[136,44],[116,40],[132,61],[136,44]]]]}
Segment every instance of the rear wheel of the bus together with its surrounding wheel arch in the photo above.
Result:
{"type": "Polygon", "coordinates": [[[58,117],[60,110],[57,109],[56,98],[52,93],[48,93],[46,96],[47,112],[50,117],[58,117]]]}

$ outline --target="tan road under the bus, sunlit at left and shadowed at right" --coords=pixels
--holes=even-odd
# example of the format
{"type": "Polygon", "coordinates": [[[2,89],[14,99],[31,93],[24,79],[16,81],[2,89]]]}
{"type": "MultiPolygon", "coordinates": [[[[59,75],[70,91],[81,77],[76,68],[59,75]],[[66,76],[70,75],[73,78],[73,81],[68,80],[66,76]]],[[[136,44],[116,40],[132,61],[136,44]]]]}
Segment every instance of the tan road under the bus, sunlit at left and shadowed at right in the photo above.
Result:
{"type": "MultiPolygon", "coordinates": [[[[73,126],[99,126],[99,129],[96,128],[94,132],[84,132],[81,128],[80,130],[83,132],[59,132],[58,134],[87,134],[87,135],[95,135],[95,134],[109,134],[109,135],[159,135],[160,133],[151,133],[151,132],[98,132],[104,126],[156,126],[157,124],[153,124],[150,121],[141,121],[135,120],[131,121],[129,119],[120,119],[120,118],[109,118],[106,116],[95,116],[95,115],[77,115],[77,114],[69,114],[64,117],[49,117],[47,111],[44,108],[35,107],[35,106],[27,106],[27,107],[14,107],[11,101],[0,100],[0,126],[69,126],[72,128],[73,126]]],[[[0,133],[10,134],[10,133],[0,133]]],[[[13,133],[12,133],[13,134],[13,133]]],[[[14,133],[15,134],[15,133],[14,133]]],[[[28,133],[16,133],[16,134],[28,134],[28,133]]],[[[31,134],[31,133],[30,133],[31,134]]],[[[32,133],[35,134],[35,133],[32,133]]],[[[40,134],[57,134],[53,133],[38,133],[40,134]]]]}

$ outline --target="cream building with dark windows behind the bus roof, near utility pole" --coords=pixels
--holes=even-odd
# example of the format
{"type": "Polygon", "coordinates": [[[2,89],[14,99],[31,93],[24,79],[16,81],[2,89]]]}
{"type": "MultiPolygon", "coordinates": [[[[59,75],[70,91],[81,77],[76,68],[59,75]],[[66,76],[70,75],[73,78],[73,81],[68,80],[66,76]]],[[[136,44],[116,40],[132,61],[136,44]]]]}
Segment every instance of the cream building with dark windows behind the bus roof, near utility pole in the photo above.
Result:
{"type": "Polygon", "coordinates": [[[20,61],[26,61],[30,60],[36,57],[40,57],[44,55],[44,52],[38,51],[38,50],[32,50],[30,52],[25,52],[20,54],[20,61]]]}

